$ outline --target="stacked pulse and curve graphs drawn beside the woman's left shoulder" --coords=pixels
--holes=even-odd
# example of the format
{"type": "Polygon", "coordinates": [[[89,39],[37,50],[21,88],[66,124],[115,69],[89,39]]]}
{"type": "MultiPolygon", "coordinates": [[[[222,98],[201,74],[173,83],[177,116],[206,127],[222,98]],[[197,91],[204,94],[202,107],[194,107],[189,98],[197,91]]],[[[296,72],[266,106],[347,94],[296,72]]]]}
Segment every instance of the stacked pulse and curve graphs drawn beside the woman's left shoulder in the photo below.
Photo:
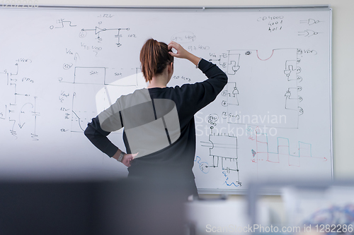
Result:
{"type": "Polygon", "coordinates": [[[142,73],[139,73],[137,68],[130,69],[135,71],[131,76],[120,78],[113,83],[108,83],[107,70],[105,67],[76,66],[72,78],[66,80],[59,78],[59,83],[69,84],[74,89],[72,95],[63,95],[72,99],[65,109],[66,112],[71,111],[65,116],[65,119],[72,121],[71,132],[84,132],[87,123],[110,107],[120,95],[127,95],[138,88],[146,87],[142,73]]]}

